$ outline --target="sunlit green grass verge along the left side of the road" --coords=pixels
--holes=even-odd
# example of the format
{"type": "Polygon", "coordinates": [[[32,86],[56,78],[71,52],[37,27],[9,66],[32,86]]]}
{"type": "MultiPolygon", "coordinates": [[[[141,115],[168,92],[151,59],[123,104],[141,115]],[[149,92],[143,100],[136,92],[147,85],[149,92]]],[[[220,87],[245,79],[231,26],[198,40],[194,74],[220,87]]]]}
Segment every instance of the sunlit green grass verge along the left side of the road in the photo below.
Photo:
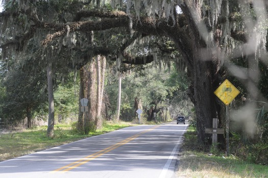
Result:
{"type": "Polygon", "coordinates": [[[90,132],[88,135],[79,135],[74,132],[71,125],[56,124],[54,126],[54,138],[46,137],[46,126],[0,134],[0,162],[128,126],[131,126],[131,123],[105,122],[101,130],[90,132]]]}

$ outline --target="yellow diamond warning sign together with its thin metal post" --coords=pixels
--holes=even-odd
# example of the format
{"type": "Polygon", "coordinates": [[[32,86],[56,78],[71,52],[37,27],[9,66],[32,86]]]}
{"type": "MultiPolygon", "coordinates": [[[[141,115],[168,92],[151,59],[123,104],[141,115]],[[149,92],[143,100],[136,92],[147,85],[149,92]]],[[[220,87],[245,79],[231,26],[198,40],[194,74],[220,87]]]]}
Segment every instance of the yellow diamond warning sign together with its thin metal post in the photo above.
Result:
{"type": "Polygon", "coordinates": [[[227,79],[214,91],[214,94],[220,98],[226,105],[226,144],[227,156],[229,156],[229,104],[240,93],[240,91],[227,79]]]}

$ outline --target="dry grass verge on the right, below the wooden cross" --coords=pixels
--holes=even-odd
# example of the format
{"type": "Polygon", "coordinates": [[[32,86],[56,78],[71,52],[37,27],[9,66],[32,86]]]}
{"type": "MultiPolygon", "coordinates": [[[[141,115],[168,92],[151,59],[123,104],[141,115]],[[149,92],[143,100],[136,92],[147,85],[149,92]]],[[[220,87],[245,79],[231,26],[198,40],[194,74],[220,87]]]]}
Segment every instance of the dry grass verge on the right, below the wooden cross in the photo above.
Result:
{"type": "Polygon", "coordinates": [[[209,149],[198,145],[196,132],[189,127],[184,134],[176,177],[268,177],[267,165],[245,162],[233,155],[226,157],[221,151],[211,155],[211,149],[204,150],[209,149]]]}

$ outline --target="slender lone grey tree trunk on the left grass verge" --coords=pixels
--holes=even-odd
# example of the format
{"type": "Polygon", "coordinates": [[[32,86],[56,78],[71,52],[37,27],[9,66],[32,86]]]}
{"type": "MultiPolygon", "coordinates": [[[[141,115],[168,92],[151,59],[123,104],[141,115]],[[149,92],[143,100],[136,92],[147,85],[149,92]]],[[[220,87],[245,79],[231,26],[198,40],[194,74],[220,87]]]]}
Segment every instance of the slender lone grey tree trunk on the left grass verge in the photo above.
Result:
{"type": "Polygon", "coordinates": [[[54,91],[53,91],[53,71],[52,63],[48,64],[47,70],[47,91],[48,91],[48,122],[47,122],[47,137],[54,136],[54,91]]]}

